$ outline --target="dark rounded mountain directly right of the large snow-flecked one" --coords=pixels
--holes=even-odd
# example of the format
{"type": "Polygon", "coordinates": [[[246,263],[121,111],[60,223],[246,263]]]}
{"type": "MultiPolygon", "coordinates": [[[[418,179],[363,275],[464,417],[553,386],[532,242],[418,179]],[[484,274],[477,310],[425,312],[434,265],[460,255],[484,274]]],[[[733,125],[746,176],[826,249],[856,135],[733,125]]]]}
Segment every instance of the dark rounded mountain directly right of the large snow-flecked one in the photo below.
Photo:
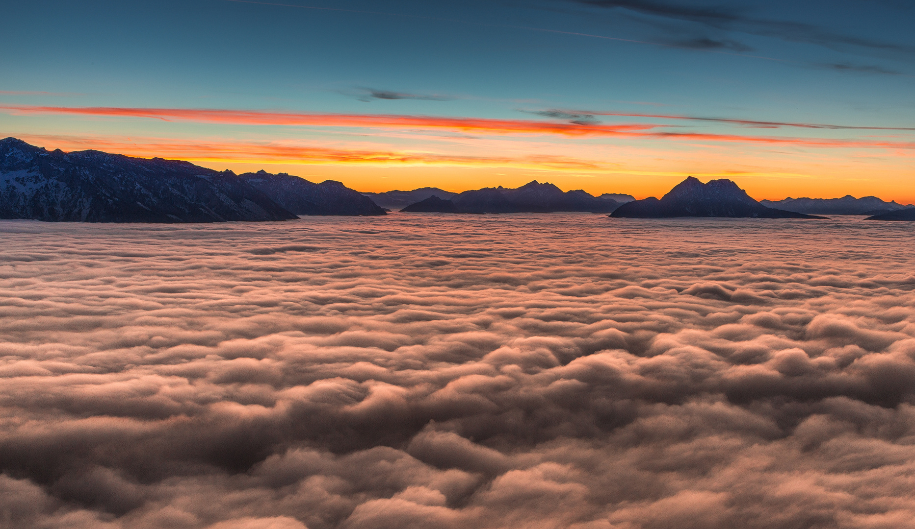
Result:
{"type": "Polygon", "coordinates": [[[358,191],[334,180],[320,184],[298,176],[271,175],[265,171],[239,175],[296,215],[384,215],[384,210],[358,191]]]}

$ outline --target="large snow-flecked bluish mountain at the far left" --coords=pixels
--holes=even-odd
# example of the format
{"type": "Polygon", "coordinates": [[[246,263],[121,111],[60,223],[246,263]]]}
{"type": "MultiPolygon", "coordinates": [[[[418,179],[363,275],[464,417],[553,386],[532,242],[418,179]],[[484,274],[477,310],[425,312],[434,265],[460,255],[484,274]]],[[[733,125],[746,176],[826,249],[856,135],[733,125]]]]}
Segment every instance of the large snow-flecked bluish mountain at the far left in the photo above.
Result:
{"type": "Polygon", "coordinates": [[[295,215],[231,171],[0,140],[0,218],[68,222],[223,222],[295,215]]]}

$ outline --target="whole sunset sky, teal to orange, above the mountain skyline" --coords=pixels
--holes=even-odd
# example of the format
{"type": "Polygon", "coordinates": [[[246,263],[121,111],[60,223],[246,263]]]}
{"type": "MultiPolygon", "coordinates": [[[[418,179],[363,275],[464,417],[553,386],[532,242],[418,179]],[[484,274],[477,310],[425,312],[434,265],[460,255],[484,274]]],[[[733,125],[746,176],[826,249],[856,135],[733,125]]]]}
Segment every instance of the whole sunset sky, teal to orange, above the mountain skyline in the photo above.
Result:
{"type": "Polygon", "coordinates": [[[4,5],[0,136],[361,191],[915,202],[910,0],[4,5]],[[15,22],[13,22],[15,21],[15,22]]]}

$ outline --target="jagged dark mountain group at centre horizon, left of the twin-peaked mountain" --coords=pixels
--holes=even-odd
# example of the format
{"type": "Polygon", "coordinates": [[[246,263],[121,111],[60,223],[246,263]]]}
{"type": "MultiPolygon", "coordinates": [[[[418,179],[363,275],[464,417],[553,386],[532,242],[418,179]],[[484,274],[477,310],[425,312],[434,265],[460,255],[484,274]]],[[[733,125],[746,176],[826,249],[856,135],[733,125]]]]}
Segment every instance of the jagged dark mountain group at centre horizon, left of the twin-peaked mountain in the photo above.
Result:
{"type": "MultiPolygon", "coordinates": [[[[438,198],[436,196],[436,198],[438,198]]],[[[608,198],[598,198],[581,189],[563,192],[553,184],[534,180],[516,189],[484,187],[465,191],[450,200],[425,199],[401,211],[435,211],[439,213],[548,213],[554,211],[586,211],[608,213],[619,203],[608,198]],[[422,205],[422,206],[421,206],[422,205]],[[415,207],[414,207],[415,206],[415,207]]]]}

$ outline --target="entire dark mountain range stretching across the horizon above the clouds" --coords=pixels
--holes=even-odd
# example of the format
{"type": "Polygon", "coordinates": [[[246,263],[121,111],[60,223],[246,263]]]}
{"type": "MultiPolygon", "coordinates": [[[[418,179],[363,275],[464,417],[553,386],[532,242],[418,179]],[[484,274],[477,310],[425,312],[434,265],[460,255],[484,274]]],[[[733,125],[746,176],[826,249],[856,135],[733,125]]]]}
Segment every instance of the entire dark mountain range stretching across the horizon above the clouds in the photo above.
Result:
{"type": "Polygon", "coordinates": [[[915,206],[875,196],[786,198],[758,202],[734,182],[706,184],[690,176],[659,200],[592,196],[536,180],[518,188],[485,187],[455,194],[436,187],[359,193],[265,171],[235,175],[178,160],[100,151],[48,151],[16,138],[0,140],[0,218],[70,222],[224,222],[287,220],[304,215],[404,212],[548,213],[582,211],[610,217],[823,218],[869,215],[915,220],[915,206]],[[377,202],[376,202],[377,201],[377,202]],[[780,207],[771,207],[780,206],[780,207]]]}

